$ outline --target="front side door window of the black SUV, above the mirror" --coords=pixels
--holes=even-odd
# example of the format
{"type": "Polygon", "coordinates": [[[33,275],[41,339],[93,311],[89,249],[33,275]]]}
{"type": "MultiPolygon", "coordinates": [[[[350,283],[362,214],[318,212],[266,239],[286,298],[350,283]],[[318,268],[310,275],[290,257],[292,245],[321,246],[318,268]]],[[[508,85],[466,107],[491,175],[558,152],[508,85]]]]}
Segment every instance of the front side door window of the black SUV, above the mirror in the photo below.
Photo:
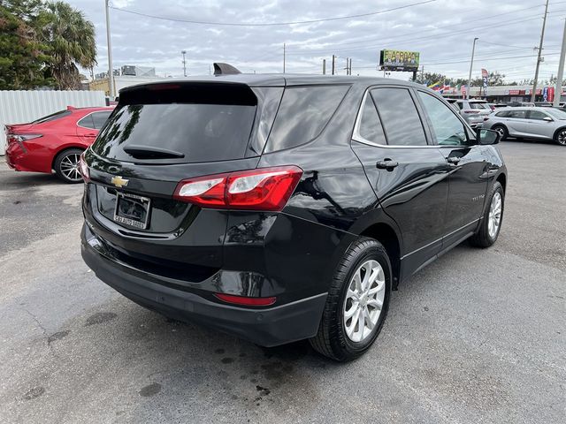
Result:
{"type": "Polygon", "coordinates": [[[440,146],[458,146],[468,143],[463,123],[450,110],[447,105],[436,97],[418,92],[423,102],[424,110],[431,120],[432,130],[436,143],[440,146]]]}

